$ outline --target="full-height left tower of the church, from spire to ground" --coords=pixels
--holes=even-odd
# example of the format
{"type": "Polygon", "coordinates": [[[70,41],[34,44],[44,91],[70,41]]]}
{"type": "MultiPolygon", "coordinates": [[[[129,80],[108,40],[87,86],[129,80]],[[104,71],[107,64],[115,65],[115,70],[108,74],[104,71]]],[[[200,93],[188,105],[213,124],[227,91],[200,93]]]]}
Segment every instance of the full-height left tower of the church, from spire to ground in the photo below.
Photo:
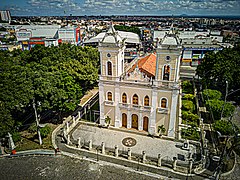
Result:
{"type": "Polygon", "coordinates": [[[101,125],[105,124],[107,116],[112,119],[111,123],[114,123],[115,127],[120,127],[121,125],[119,108],[120,88],[118,82],[124,72],[124,50],[124,39],[111,25],[98,45],[101,66],[99,77],[101,125]]]}

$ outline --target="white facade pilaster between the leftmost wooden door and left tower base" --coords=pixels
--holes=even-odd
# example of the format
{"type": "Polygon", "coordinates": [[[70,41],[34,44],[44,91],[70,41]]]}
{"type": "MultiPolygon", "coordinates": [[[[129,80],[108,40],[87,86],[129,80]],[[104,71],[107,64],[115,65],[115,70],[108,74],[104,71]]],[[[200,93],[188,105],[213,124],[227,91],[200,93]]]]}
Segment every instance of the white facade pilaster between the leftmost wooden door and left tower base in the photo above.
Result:
{"type": "Polygon", "coordinates": [[[114,104],[115,104],[115,119],[114,119],[114,126],[115,127],[121,127],[122,121],[120,116],[120,108],[119,108],[119,100],[120,98],[120,89],[119,84],[115,85],[115,96],[114,96],[114,104]]]}

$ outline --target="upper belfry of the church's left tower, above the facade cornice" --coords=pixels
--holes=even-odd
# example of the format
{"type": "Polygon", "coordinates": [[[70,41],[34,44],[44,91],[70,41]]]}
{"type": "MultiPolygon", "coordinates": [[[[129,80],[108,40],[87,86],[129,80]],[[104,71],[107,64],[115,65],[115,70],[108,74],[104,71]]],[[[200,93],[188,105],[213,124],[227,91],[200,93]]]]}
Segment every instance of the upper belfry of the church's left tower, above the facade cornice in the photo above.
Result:
{"type": "Polygon", "coordinates": [[[125,43],[113,25],[99,42],[101,78],[117,80],[124,72],[125,43]]]}

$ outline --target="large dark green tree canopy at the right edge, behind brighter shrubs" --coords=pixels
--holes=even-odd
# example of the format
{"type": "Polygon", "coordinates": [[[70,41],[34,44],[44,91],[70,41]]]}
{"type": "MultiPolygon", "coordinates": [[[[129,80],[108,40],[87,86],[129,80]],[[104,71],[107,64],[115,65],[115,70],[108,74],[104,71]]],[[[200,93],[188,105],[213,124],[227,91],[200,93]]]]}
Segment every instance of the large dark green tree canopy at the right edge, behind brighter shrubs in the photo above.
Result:
{"type": "MultiPolygon", "coordinates": [[[[197,67],[197,75],[202,78],[203,85],[213,87],[225,93],[226,81],[229,90],[240,88],[240,45],[225,48],[217,53],[209,52],[197,67]]],[[[237,94],[237,93],[236,93],[237,94]]],[[[238,91],[238,95],[240,91],[238,91]]]]}

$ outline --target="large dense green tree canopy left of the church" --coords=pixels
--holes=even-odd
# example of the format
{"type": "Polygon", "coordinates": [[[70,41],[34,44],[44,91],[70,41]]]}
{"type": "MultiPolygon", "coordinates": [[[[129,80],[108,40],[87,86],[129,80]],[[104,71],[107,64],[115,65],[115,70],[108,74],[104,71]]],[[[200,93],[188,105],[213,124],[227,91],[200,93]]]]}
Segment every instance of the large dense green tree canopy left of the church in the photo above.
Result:
{"type": "Polygon", "coordinates": [[[0,51],[0,136],[33,111],[33,100],[38,112],[73,111],[96,85],[98,71],[98,51],[91,47],[64,44],[0,51]]]}

